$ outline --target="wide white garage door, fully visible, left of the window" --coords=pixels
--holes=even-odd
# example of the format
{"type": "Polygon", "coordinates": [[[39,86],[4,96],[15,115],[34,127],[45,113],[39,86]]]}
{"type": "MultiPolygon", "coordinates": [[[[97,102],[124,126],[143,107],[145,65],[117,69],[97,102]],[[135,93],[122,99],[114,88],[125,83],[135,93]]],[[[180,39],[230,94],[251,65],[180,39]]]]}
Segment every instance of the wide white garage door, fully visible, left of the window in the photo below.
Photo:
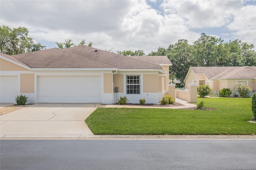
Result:
{"type": "Polygon", "coordinates": [[[39,103],[101,103],[101,76],[39,76],[39,103]]]}

